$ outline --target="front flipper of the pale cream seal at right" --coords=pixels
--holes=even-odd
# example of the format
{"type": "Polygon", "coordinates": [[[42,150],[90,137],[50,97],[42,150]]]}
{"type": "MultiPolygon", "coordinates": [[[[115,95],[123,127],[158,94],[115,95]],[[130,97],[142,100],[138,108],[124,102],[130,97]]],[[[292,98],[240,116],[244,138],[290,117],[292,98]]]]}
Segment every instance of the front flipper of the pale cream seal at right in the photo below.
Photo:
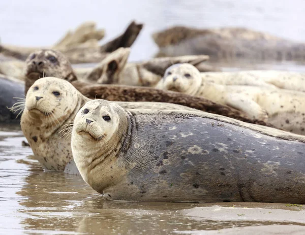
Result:
{"type": "Polygon", "coordinates": [[[268,118],[266,110],[249,97],[237,93],[228,94],[226,105],[234,109],[245,112],[250,118],[266,120],[268,118]]]}

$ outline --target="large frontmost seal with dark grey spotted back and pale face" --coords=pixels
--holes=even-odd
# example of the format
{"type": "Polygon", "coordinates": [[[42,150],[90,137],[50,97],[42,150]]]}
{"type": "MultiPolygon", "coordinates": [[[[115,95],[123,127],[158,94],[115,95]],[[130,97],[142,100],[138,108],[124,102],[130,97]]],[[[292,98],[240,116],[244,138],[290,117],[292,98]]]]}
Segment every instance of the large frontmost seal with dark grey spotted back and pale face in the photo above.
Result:
{"type": "Polygon", "coordinates": [[[77,113],[71,146],[84,181],[109,199],[303,204],[304,142],[220,115],[96,99],[77,113]]]}

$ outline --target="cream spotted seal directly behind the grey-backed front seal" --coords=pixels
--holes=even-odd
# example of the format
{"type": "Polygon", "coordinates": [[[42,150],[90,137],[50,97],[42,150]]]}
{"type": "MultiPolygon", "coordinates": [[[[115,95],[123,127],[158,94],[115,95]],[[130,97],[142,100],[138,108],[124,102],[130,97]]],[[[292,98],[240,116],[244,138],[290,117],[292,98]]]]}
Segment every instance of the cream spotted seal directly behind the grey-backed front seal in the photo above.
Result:
{"type": "MultiPolygon", "coordinates": [[[[21,129],[36,158],[45,170],[66,171],[66,165],[72,160],[69,133],[60,132],[64,125],[69,126],[76,113],[88,101],[68,81],[45,77],[37,80],[26,94],[21,129]],[[63,135],[68,138],[62,138],[63,135]]],[[[126,109],[181,109],[188,107],[154,102],[116,102],[126,109]]],[[[21,106],[19,106],[21,108],[21,106]]],[[[73,162],[69,163],[73,168],[73,162]]],[[[68,168],[69,168],[68,167],[68,168]]]]}

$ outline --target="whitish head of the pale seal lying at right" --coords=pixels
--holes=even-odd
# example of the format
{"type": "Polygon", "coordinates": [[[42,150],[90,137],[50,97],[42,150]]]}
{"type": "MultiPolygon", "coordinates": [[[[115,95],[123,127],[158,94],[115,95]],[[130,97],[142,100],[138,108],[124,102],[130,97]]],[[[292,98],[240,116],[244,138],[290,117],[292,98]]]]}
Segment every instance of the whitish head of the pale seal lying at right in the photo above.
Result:
{"type": "Polygon", "coordinates": [[[171,65],[156,88],[194,95],[202,83],[200,72],[189,63],[171,65]]]}

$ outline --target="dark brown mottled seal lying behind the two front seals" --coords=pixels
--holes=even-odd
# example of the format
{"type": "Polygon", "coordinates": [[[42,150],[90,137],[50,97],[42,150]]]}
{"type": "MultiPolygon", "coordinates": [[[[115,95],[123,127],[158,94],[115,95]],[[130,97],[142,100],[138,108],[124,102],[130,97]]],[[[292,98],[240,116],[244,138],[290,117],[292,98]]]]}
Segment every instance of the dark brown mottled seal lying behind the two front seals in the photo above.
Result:
{"type": "Polygon", "coordinates": [[[29,86],[31,86],[36,80],[46,76],[57,76],[58,78],[70,81],[83,95],[92,99],[102,98],[110,101],[173,103],[201,111],[229,116],[241,121],[266,125],[262,120],[253,120],[245,113],[227,106],[216,104],[205,98],[192,97],[190,95],[167,92],[150,87],[93,85],[78,81],[69,60],[62,53],[57,51],[42,50],[39,53],[34,52],[31,54],[27,59],[27,66],[24,74],[26,84],[25,93],[29,86]],[[50,61],[50,59],[52,61],[50,61]]]}

